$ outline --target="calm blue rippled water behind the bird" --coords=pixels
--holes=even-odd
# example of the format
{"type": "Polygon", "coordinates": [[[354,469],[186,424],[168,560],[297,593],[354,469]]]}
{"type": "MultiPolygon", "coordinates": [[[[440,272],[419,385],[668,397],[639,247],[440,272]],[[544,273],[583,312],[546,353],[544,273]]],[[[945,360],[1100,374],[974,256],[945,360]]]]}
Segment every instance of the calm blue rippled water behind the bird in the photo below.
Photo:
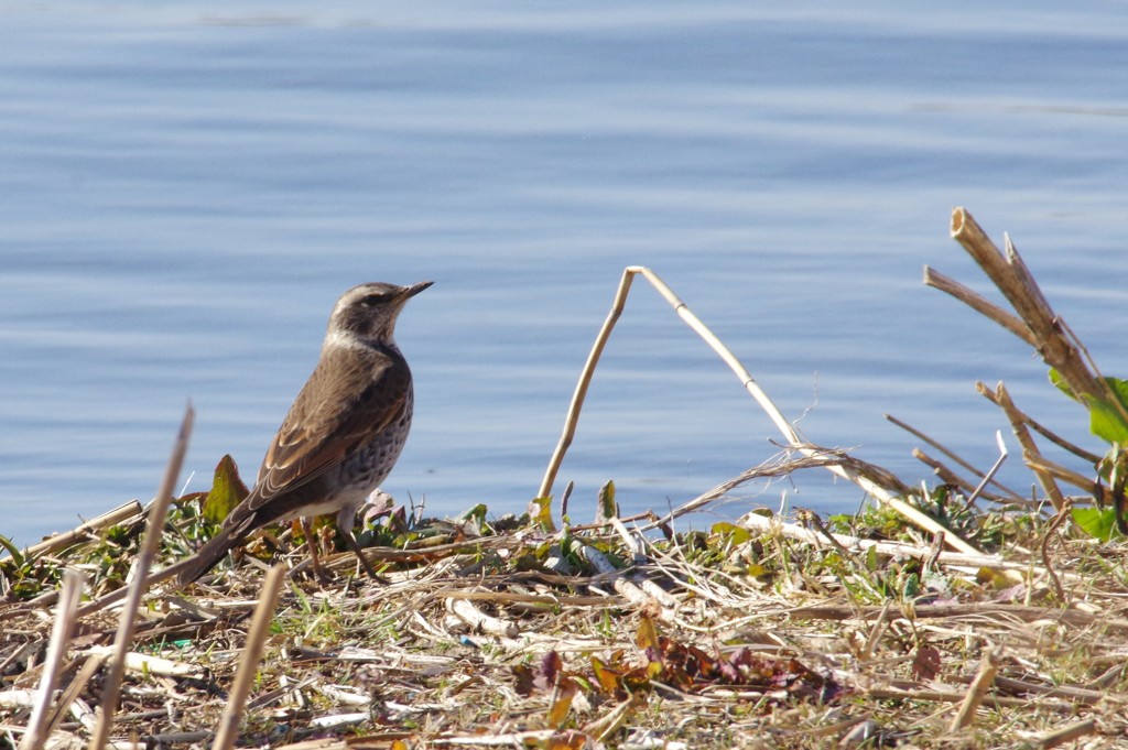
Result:
{"type": "MultiPolygon", "coordinates": [[[[1082,6],[10,5],[0,533],[150,497],[190,398],[186,487],[228,452],[253,478],[363,281],[435,281],[400,320],[416,421],[386,488],[437,514],[523,509],[629,264],[812,441],[908,482],[929,475],[885,412],[995,459],[977,379],[1095,448],[1023,344],[920,284],[992,291],[948,238],[966,205],[1128,373],[1128,10],[1082,6]]],[[[664,509],[769,439],[640,281],[557,492],[576,520],[609,478],[664,509]]],[[[783,492],[861,502],[800,475],[721,512],[783,492]]]]}

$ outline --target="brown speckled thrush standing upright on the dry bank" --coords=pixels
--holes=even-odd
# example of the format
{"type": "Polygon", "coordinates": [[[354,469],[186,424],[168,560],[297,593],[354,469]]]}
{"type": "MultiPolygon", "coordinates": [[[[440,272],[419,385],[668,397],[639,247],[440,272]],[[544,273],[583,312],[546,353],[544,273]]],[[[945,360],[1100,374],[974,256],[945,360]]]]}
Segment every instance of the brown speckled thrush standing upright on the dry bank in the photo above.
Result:
{"type": "Polygon", "coordinates": [[[174,566],[179,586],[211,571],[255,530],[296,518],[302,519],[320,573],[309,519],[328,513],[336,514],[337,528],[365,572],[379,580],[352,527],[365,497],[391,471],[411,430],[412,371],[394,333],[407,300],[432,283],[373,282],[341,295],[317,367],[267,448],[255,486],[212,539],[174,566]]]}

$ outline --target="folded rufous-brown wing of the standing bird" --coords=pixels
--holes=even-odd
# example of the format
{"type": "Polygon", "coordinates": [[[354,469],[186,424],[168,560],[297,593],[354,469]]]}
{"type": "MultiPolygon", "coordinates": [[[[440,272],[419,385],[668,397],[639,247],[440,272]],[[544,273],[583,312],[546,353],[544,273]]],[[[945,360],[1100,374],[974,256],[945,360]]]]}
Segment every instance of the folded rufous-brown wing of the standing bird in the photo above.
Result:
{"type": "Polygon", "coordinates": [[[411,390],[411,372],[398,352],[323,352],[266,451],[247,510],[341,464],[403,417],[411,390]]]}

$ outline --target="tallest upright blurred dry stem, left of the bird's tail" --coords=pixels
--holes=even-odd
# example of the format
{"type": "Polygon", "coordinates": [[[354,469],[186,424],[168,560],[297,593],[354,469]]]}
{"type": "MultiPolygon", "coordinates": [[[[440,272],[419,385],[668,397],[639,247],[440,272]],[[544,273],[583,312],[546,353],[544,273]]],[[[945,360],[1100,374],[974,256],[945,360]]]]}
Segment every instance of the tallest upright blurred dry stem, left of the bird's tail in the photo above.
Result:
{"type": "Polygon", "coordinates": [[[165,468],[165,478],[160,483],[152,509],[149,511],[149,523],[146,527],[144,542],[141,546],[141,554],[138,556],[133,571],[133,582],[130,584],[126,594],[126,606],[122,610],[121,619],[117,623],[117,635],[114,638],[114,656],[109,661],[106,671],[105,689],[102,694],[98,723],[90,735],[90,750],[102,750],[109,736],[109,727],[114,722],[114,712],[117,711],[117,700],[122,688],[122,677],[125,672],[125,656],[129,652],[130,642],[133,639],[134,612],[141,603],[141,597],[148,589],[149,567],[157,556],[157,548],[160,545],[161,530],[165,528],[165,517],[168,513],[168,504],[173,501],[173,491],[176,487],[177,477],[180,476],[180,467],[184,465],[184,455],[188,451],[188,435],[192,434],[192,422],[195,412],[190,404],[184,412],[184,421],[180,423],[180,431],[173,445],[173,455],[168,459],[165,468]]]}

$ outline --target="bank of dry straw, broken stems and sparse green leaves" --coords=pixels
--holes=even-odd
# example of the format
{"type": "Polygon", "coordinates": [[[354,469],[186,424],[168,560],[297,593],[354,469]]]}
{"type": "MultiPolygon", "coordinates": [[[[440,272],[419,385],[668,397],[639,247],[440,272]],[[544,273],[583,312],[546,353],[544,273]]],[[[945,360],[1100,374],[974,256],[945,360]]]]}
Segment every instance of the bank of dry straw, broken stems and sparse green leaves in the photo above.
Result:
{"type": "MultiPolygon", "coordinates": [[[[942,456],[920,452],[940,475],[934,487],[808,442],[653,272],[628,268],[541,497],[520,517],[476,508],[438,521],[394,509],[369,519],[361,542],[386,585],[358,577],[351,554],[328,556],[332,581],[308,577],[296,524],[185,591],[150,589],[150,557],[167,566],[209,533],[200,497],[174,501],[167,519],[160,503],[133,504],[9,548],[0,561],[7,742],[1128,745],[1128,549],[1116,531],[1128,475],[1125,391],[1087,360],[1008,240],[999,253],[962,210],[953,236],[1015,314],[935,272],[928,283],[1028,341],[1110,444],[1103,457],[1087,453],[1024,414],[1002,385],[984,388],[1007,414],[1040,496],[999,485],[994,469],[908,425],[942,456]],[[664,515],[622,518],[608,484],[596,520],[579,524],[569,492],[549,495],[636,275],[721,355],[785,444],[664,515]],[[1091,470],[1069,468],[1078,464],[1091,470]],[[801,482],[810,470],[849,478],[873,500],[855,515],[757,511],[693,529],[695,511],[746,483],[801,482]],[[135,589],[123,589],[134,563],[135,589]]],[[[228,461],[217,471],[217,487],[237,484],[228,461]]]]}

